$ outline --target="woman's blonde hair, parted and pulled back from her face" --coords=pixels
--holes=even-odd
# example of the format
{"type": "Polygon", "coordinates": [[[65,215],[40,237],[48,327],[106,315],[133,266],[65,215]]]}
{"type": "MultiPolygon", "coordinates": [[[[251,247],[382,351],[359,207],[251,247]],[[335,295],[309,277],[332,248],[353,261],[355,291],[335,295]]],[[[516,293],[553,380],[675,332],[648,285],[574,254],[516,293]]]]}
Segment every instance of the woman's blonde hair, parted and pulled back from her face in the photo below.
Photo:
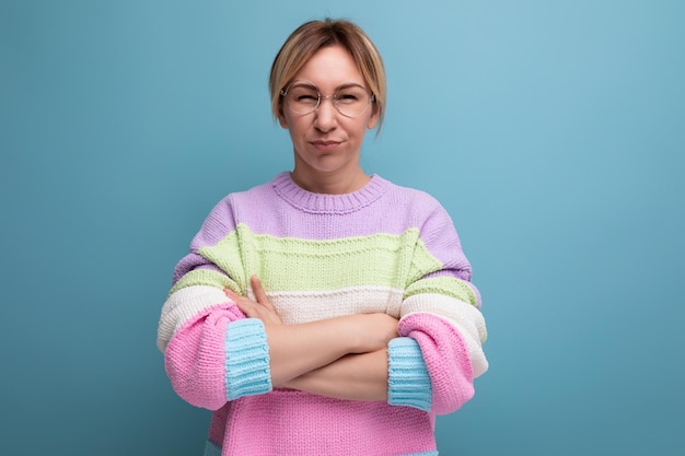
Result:
{"type": "Polygon", "coordinates": [[[310,21],[300,25],[286,39],[274,59],[269,75],[271,114],[278,118],[281,109],[281,90],[314,54],[327,46],[342,46],[351,54],[364,83],[375,98],[373,108],[379,116],[378,133],[385,114],[386,85],[383,59],[369,36],[357,24],[346,20],[310,21]]]}

